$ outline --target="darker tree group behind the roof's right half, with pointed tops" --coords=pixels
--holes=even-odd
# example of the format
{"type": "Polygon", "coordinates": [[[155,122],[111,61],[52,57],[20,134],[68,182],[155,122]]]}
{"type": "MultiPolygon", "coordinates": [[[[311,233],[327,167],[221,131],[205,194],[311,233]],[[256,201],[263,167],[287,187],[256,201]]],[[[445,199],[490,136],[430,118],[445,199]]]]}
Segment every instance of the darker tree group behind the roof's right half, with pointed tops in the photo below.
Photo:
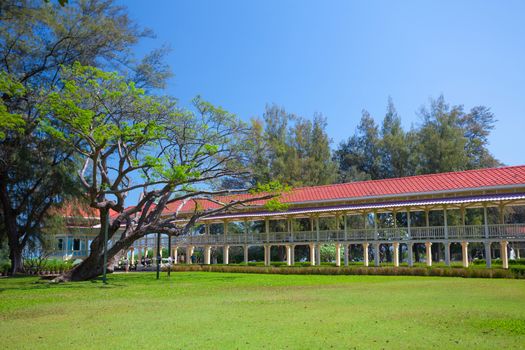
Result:
{"type": "Polygon", "coordinates": [[[384,179],[499,165],[488,151],[495,118],[486,107],[465,112],[440,96],[421,109],[421,124],[403,130],[389,99],[381,128],[363,111],[354,135],[334,152],[339,181],[384,179]]]}

